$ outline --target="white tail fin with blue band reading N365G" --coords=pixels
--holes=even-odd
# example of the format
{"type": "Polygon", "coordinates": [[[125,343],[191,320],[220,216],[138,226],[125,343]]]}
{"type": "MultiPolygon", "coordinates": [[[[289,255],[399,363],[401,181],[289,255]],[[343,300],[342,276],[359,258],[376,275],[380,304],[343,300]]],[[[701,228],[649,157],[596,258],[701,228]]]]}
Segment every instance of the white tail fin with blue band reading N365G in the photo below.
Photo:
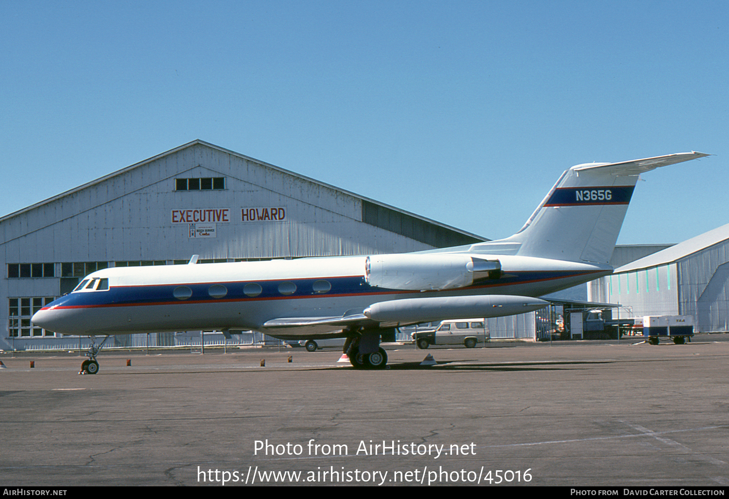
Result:
{"type": "Polygon", "coordinates": [[[621,163],[572,166],[558,179],[521,231],[474,244],[472,252],[608,263],[639,175],[702,152],[679,152],[621,163]]]}

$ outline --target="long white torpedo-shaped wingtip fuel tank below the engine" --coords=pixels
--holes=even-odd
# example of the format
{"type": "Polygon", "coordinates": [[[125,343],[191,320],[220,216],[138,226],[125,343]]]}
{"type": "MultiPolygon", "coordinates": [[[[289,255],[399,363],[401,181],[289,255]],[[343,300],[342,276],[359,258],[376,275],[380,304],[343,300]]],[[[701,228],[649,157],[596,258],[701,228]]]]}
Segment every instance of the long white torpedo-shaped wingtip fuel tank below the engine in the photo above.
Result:
{"type": "Polygon", "coordinates": [[[516,295],[405,298],[373,303],[364,309],[364,316],[388,324],[413,324],[443,319],[526,314],[547,305],[547,301],[539,298],[516,295]]]}

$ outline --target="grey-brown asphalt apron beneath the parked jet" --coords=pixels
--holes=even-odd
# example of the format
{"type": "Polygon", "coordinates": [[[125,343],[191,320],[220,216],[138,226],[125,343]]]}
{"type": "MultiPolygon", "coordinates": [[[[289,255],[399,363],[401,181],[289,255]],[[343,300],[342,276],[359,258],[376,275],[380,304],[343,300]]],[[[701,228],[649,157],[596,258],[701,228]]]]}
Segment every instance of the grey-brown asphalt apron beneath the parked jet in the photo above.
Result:
{"type": "Polygon", "coordinates": [[[382,371],[263,348],[102,351],[79,376],[78,354],[4,352],[0,482],[727,486],[727,336],[388,346],[382,371]]]}

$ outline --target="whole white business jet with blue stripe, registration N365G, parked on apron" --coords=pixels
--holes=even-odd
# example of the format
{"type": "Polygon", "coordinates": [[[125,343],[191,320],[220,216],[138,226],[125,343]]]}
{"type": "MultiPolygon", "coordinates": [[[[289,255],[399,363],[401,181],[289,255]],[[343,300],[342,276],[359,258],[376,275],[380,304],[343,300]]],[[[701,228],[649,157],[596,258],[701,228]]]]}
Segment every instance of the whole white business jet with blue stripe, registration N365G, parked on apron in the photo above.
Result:
{"type": "MultiPolygon", "coordinates": [[[[383,368],[380,341],[394,328],[531,312],[548,304],[535,297],[611,274],[639,174],[703,156],[572,166],[521,231],[498,241],[395,255],[105,268],[32,321],[88,336],[256,330],[279,339],[344,337],[355,368],[383,368]]],[[[98,371],[97,352],[90,350],[82,370],[98,371]]]]}

